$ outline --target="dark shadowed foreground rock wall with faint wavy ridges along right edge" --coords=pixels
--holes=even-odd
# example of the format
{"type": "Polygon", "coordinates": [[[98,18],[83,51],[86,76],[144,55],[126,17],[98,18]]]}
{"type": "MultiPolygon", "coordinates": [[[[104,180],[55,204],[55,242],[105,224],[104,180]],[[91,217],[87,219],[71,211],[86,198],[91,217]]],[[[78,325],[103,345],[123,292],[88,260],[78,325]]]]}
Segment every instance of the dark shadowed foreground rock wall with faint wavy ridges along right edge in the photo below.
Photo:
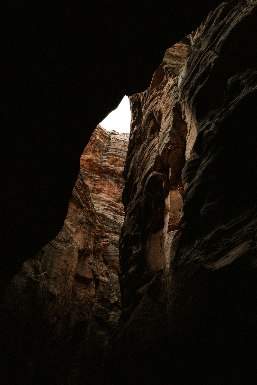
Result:
{"type": "Polygon", "coordinates": [[[188,138],[168,315],[198,383],[257,380],[257,2],[236,3],[210,13],[178,82],[188,138]]]}

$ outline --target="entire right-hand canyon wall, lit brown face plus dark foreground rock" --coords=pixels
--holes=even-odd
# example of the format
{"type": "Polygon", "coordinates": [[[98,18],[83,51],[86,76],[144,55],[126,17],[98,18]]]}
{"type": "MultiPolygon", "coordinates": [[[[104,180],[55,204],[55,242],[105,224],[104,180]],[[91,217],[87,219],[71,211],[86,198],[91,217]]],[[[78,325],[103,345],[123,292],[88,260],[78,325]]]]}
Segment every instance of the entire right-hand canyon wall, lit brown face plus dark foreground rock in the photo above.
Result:
{"type": "Polygon", "coordinates": [[[257,2],[224,2],[130,98],[125,383],[257,381],[256,44],[257,2]]]}

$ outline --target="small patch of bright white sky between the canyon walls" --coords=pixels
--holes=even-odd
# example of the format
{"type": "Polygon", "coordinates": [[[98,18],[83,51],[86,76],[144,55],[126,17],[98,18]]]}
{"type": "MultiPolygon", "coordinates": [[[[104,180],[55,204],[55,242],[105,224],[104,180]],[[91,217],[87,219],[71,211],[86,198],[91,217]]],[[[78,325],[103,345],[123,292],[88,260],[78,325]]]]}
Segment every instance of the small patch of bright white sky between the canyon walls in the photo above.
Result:
{"type": "Polygon", "coordinates": [[[107,131],[129,132],[130,117],[128,96],[124,96],[116,110],[110,112],[99,124],[107,131]]]}

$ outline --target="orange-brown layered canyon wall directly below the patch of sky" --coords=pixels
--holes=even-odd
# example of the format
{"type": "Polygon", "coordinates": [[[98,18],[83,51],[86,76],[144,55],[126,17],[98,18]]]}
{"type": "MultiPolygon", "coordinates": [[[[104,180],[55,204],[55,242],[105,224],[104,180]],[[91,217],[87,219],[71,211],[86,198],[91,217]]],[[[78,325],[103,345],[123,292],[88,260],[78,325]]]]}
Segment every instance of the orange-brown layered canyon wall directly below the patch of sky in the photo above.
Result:
{"type": "Polygon", "coordinates": [[[98,383],[121,313],[118,239],[129,134],[97,126],[64,227],[8,286],[4,383],[98,383]]]}

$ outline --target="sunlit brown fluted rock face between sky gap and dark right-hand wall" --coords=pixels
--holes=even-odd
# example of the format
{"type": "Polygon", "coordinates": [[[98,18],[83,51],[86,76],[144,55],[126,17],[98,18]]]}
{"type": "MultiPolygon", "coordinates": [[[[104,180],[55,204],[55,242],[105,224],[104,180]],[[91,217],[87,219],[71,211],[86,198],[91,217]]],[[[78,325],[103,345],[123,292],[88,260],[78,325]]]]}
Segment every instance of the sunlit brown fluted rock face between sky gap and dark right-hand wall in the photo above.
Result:
{"type": "Polygon", "coordinates": [[[187,127],[181,117],[177,76],[189,42],[184,39],[167,50],[149,89],[130,97],[131,136],[123,191],[126,215],[120,239],[124,317],[163,269],[167,234],[178,228],[187,127]]]}

